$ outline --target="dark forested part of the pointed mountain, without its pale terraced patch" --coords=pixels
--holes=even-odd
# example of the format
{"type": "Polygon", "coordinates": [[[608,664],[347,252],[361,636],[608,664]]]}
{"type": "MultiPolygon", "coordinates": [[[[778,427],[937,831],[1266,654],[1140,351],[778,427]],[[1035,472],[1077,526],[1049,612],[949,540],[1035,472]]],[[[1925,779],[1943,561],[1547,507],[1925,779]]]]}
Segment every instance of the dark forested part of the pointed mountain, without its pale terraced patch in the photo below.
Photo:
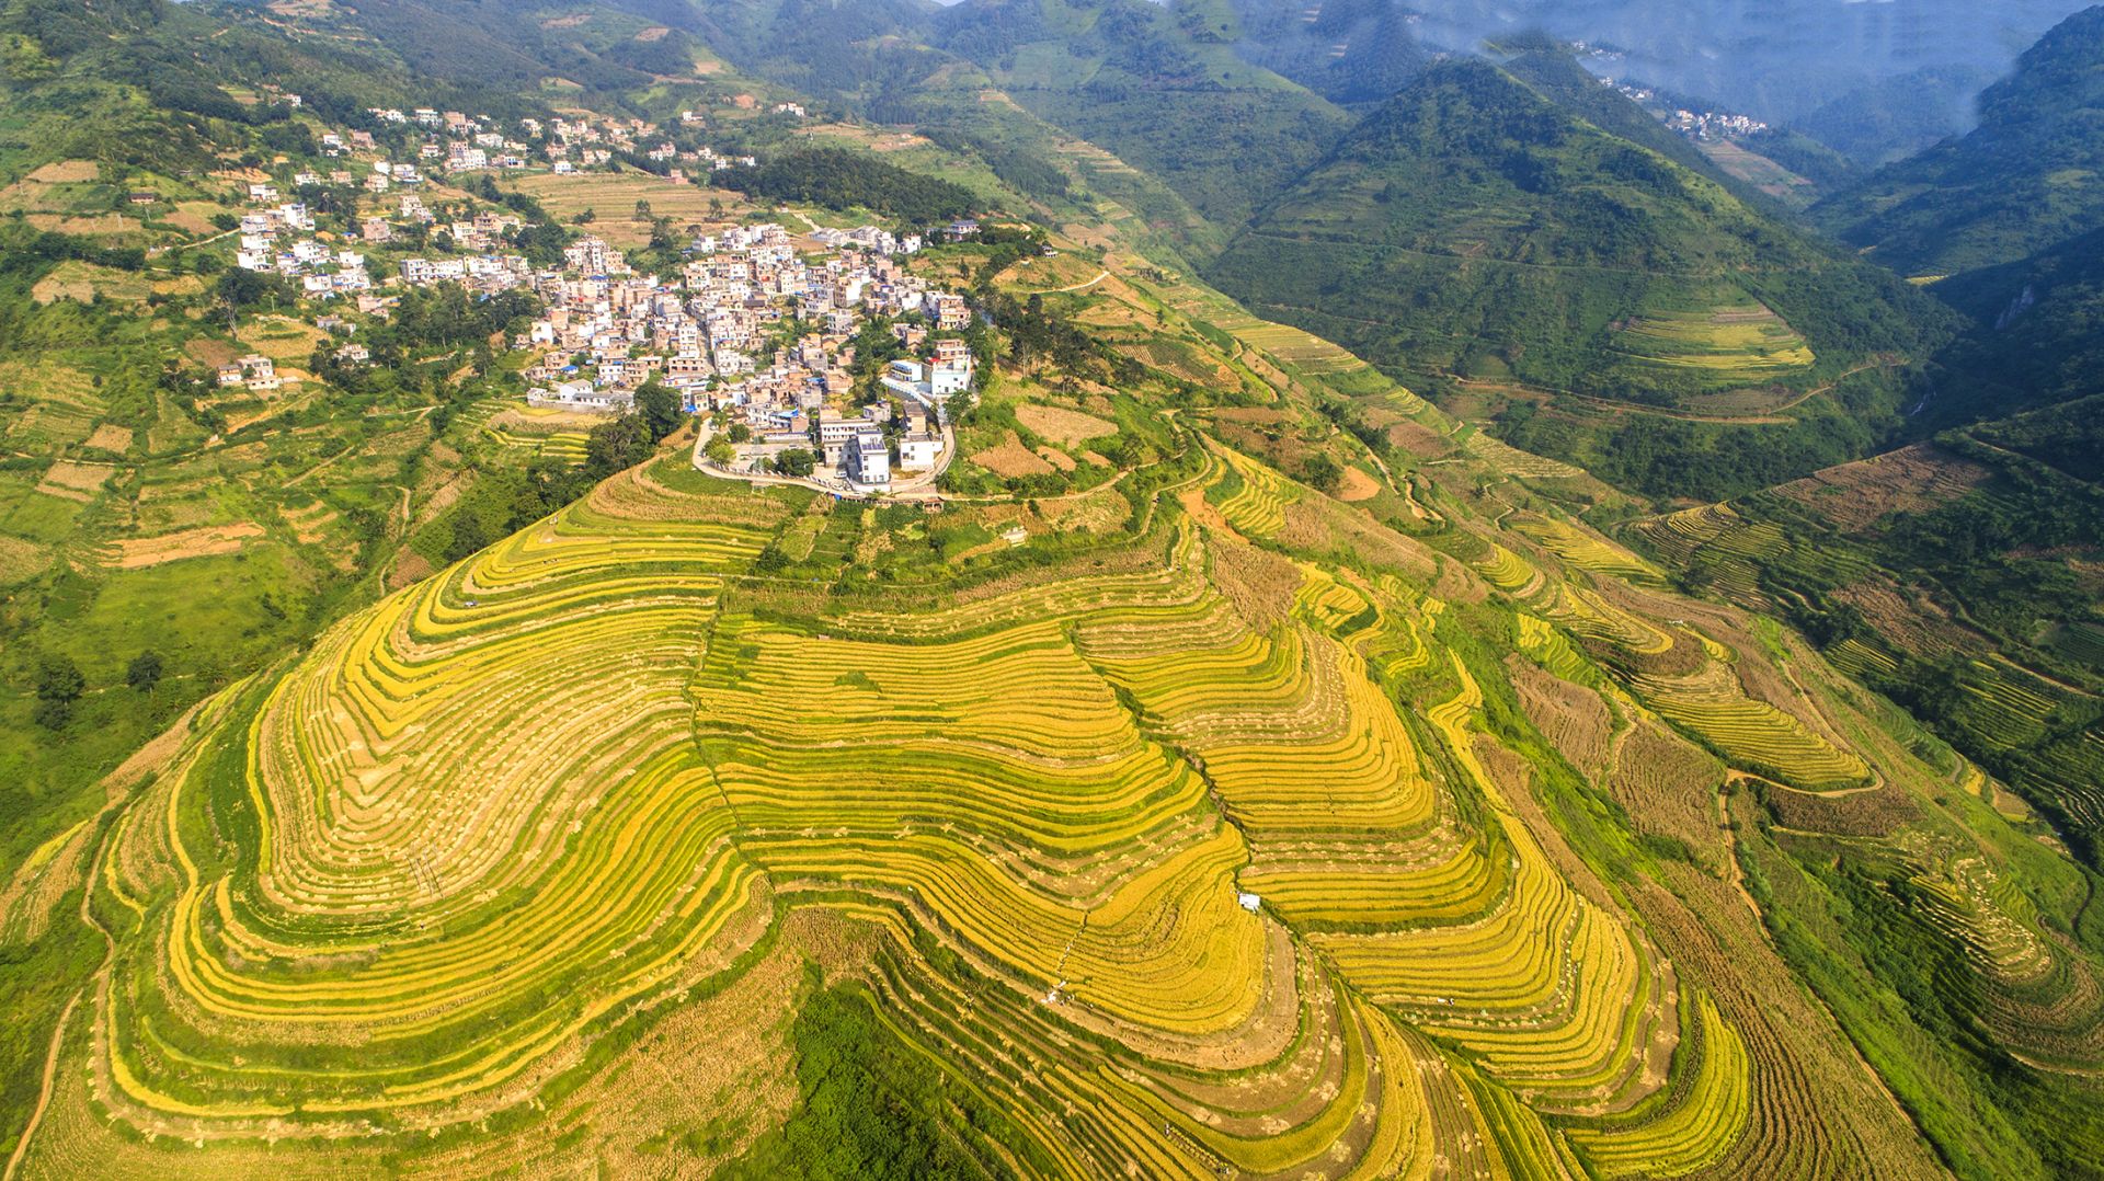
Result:
{"type": "Polygon", "coordinates": [[[1370,114],[1214,269],[1252,303],[1405,371],[1504,366],[1637,400],[1690,381],[1612,356],[1633,316],[1761,303],[1826,354],[1904,347],[1900,305],[1921,303],[1466,59],[1370,114]]]}

